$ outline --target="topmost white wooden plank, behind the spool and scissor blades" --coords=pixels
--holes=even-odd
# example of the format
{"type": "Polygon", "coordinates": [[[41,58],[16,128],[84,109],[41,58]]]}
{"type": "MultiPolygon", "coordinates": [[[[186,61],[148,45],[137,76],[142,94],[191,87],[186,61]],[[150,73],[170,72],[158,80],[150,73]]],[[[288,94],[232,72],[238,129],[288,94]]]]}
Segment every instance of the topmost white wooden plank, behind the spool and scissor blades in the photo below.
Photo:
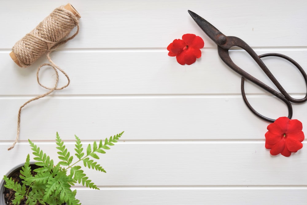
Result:
{"type": "MultiPolygon", "coordinates": [[[[307,3],[302,0],[150,0],[150,1],[71,1],[81,14],[80,34],[66,48],[166,48],[183,34],[204,38],[206,47],[215,44],[189,16],[192,10],[225,35],[242,38],[251,46],[306,46],[307,3]],[[170,6],[172,5],[172,6],[170,6]],[[266,5],[266,6],[263,6],[266,5]],[[272,10],[274,8],[274,10],[272,10]]],[[[0,48],[10,49],[63,1],[2,1],[0,3],[0,48]],[[14,5],[14,6],[13,6],[14,5]],[[37,9],[40,8],[40,9],[37,9]],[[14,18],[7,21],[7,14],[14,18]],[[18,25],[18,26],[17,26],[18,25]]]]}

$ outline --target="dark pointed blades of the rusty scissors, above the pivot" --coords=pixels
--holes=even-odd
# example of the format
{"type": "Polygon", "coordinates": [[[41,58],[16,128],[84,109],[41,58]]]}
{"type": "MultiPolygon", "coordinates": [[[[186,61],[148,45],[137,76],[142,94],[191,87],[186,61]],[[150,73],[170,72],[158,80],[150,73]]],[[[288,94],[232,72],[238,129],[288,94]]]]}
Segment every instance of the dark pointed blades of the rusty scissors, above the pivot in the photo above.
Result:
{"type": "MultiPolygon", "coordinates": [[[[216,43],[219,45],[217,39],[222,33],[211,23],[207,22],[204,18],[195,14],[193,11],[188,10],[191,17],[197,23],[197,25],[216,43]]],[[[223,34],[222,34],[223,35],[223,34]]]]}

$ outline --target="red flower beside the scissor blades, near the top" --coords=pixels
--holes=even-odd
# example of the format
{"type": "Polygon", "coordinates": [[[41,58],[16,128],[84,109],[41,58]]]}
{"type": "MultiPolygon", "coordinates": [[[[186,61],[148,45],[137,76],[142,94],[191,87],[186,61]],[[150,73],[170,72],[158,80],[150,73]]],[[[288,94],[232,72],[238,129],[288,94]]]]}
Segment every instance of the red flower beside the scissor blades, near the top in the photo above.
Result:
{"type": "Polygon", "coordinates": [[[184,34],[181,39],[175,39],[167,46],[169,56],[176,56],[177,62],[181,65],[191,65],[200,58],[200,49],[204,47],[204,41],[195,34],[184,34]]]}

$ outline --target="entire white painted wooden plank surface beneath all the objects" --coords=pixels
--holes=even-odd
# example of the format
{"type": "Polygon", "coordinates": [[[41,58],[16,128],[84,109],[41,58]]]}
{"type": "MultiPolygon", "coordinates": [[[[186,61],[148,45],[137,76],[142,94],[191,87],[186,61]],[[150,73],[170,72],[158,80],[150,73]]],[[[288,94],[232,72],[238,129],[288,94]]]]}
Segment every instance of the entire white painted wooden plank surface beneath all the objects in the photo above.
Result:
{"type": "MultiPolygon", "coordinates": [[[[122,140],[101,157],[106,174],[86,170],[101,190],[76,187],[84,205],[306,204],[307,151],[289,158],[270,156],[264,147],[267,122],[254,116],[240,96],[240,76],[220,60],[216,45],[189,16],[192,10],[221,32],[237,36],[258,54],[283,53],[307,68],[307,2],[114,0],[70,3],[81,14],[80,33],[52,53],[71,85],[27,105],[16,136],[17,111],[28,99],[45,93],[36,82],[37,66],[27,69],[10,59],[14,43],[54,8],[67,2],[0,2],[0,176],[23,162],[36,142],[56,160],[59,132],[73,151],[76,134],[84,143],[125,131],[122,140]],[[167,45],[183,34],[204,39],[202,57],[188,66],[169,57],[167,45]]],[[[234,61],[274,87],[239,49],[234,61]]],[[[306,88],[288,62],[266,64],[292,96],[306,88]]],[[[55,80],[41,72],[44,85],[55,80]]],[[[66,83],[60,77],[60,85],[66,83]]],[[[286,106],[246,83],[256,110],[286,116],[286,106]]],[[[293,105],[293,118],[307,132],[307,104],[293,105]]]]}

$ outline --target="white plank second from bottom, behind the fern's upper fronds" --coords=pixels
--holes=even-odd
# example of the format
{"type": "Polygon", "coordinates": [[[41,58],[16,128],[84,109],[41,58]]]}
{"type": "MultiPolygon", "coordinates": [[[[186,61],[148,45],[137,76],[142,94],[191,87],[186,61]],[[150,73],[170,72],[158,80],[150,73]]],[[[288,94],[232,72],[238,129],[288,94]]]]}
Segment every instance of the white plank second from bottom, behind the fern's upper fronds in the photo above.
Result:
{"type": "MultiPolygon", "coordinates": [[[[36,144],[58,161],[54,142],[36,144]]],[[[74,143],[65,145],[72,155],[74,143]]],[[[22,163],[31,152],[27,143],[6,151],[8,146],[0,145],[0,175],[22,163]]],[[[121,141],[98,160],[107,173],[84,171],[96,185],[104,187],[306,186],[307,177],[300,172],[307,168],[306,157],[305,147],[290,158],[270,156],[264,141],[121,141]]]]}

